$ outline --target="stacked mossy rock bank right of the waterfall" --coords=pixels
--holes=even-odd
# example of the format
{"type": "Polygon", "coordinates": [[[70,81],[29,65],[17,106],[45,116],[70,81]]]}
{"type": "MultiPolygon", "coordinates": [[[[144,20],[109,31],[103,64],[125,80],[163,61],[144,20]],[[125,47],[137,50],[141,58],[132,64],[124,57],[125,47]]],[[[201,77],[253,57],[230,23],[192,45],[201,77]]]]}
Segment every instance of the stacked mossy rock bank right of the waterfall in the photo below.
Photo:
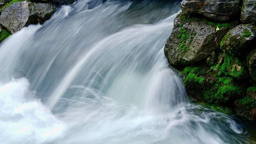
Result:
{"type": "Polygon", "coordinates": [[[184,0],[165,45],[188,95],[256,119],[256,1],[184,0]]]}

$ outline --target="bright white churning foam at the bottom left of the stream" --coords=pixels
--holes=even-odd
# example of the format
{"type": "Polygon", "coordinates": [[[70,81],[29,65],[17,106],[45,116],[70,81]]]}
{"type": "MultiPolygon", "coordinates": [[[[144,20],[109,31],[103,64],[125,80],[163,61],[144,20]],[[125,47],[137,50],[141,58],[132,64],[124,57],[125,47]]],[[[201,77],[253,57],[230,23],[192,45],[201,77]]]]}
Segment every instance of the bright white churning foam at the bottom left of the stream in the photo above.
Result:
{"type": "Polygon", "coordinates": [[[33,100],[27,79],[0,85],[0,143],[42,143],[63,134],[65,125],[33,100]]]}

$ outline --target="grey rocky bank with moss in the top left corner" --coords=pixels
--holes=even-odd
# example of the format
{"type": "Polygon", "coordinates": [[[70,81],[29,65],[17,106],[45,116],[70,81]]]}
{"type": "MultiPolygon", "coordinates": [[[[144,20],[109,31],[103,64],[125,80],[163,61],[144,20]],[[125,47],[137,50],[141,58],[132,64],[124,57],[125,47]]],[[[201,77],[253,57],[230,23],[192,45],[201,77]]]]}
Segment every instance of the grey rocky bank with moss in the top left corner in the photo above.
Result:
{"type": "Polygon", "coordinates": [[[0,0],[0,43],[30,24],[51,18],[57,7],[74,0],[0,0]]]}

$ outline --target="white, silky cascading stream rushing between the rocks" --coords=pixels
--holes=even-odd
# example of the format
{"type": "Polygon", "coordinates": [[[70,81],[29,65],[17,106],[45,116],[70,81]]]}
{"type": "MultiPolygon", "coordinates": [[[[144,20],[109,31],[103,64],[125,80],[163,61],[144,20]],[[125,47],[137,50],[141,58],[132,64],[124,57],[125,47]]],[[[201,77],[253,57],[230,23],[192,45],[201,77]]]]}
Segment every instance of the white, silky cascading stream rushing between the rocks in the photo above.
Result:
{"type": "Polygon", "coordinates": [[[177,2],[78,1],[0,47],[0,143],[248,143],[187,101],[163,47],[177,2]]]}

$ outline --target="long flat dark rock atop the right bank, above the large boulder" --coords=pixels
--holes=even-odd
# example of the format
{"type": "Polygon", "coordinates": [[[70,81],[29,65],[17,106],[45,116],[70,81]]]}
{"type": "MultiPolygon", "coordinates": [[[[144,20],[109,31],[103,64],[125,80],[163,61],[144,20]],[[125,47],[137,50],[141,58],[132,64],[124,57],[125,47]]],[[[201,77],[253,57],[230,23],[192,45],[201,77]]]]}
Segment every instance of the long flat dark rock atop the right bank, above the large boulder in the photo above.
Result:
{"type": "Polygon", "coordinates": [[[213,20],[225,21],[237,16],[239,0],[183,0],[182,12],[198,13],[213,20]]]}

